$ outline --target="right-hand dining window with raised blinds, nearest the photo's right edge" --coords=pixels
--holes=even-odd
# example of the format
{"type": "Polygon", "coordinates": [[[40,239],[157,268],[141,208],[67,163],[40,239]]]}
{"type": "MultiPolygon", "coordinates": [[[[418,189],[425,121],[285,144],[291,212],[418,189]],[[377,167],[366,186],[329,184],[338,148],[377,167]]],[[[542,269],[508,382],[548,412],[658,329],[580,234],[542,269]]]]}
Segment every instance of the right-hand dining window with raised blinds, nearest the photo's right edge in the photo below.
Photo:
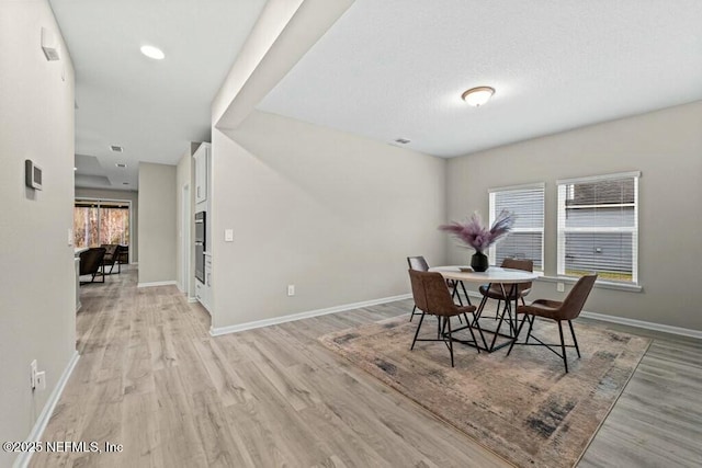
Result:
{"type": "Polygon", "coordinates": [[[558,181],[558,275],[638,284],[639,176],[558,181]]]}

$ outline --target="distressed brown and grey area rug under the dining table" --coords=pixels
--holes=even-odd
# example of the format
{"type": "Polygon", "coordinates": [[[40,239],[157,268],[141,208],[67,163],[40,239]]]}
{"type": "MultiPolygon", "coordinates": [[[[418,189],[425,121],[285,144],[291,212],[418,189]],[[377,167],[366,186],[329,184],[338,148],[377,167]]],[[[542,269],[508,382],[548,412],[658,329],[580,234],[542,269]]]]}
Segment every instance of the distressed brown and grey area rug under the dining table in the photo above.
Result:
{"type": "MultiPolygon", "coordinates": [[[[420,338],[435,338],[435,322],[426,318],[420,338]]],[[[456,343],[452,368],[441,342],[409,351],[416,327],[400,316],[319,341],[518,467],[573,467],[650,343],[576,321],[582,357],[568,350],[568,374],[542,346],[514,346],[507,356],[506,349],[478,354],[456,343]]],[[[534,330],[559,342],[555,322],[537,321],[534,330]]]]}

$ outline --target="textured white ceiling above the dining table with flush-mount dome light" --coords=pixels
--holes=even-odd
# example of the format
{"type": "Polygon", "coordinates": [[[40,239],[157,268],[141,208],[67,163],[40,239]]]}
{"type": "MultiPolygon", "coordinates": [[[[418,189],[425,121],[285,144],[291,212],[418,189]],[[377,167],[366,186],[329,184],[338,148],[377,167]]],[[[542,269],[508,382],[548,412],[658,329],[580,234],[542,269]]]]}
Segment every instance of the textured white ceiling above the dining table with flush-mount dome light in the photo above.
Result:
{"type": "Polygon", "coordinates": [[[700,24],[700,0],[356,0],[258,109],[454,157],[702,99],[700,24]]]}

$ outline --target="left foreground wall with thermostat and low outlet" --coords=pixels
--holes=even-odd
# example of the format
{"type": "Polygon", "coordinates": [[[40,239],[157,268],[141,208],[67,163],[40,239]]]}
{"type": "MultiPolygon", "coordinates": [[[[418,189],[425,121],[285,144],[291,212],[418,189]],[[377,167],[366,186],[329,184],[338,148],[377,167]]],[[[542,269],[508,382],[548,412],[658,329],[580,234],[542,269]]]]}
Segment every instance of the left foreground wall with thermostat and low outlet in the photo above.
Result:
{"type": "MultiPolygon", "coordinates": [[[[73,68],[45,0],[0,2],[0,441],[23,441],[76,350],[73,68]],[[44,57],[42,26],[60,61],[44,57]],[[25,159],[43,191],[24,186],[25,159]],[[32,359],[47,380],[34,393],[32,359]]],[[[0,466],[14,458],[0,452],[0,466]]]]}

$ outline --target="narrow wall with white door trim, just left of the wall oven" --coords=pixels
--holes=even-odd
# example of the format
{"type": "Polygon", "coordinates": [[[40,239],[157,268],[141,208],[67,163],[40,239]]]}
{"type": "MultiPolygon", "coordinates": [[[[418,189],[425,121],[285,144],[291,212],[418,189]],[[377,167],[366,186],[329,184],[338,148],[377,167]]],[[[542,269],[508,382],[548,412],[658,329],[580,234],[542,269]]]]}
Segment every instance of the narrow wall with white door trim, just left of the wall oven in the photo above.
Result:
{"type": "Polygon", "coordinates": [[[185,152],[178,161],[176,167],[176,226],[178,227],[178,243],[176,246],[176,275],[178,277],[178,287],[181,292],[185,293],[188,297],[195,297],[195,248],[194,248],[194,209],[195,206],[195,160],[192,157],[192,151],[185,152]],[[189,187],[189,201],[186,202],[188,215],[188,230],[183,229],[183,186],[189,187]],[[183,238],[190,238],[189,246],[186,247],[188,255],[190,258],[190,269],[188,273],[188,290],[185,290],[185,278],[183,277],[183,238]]]}

